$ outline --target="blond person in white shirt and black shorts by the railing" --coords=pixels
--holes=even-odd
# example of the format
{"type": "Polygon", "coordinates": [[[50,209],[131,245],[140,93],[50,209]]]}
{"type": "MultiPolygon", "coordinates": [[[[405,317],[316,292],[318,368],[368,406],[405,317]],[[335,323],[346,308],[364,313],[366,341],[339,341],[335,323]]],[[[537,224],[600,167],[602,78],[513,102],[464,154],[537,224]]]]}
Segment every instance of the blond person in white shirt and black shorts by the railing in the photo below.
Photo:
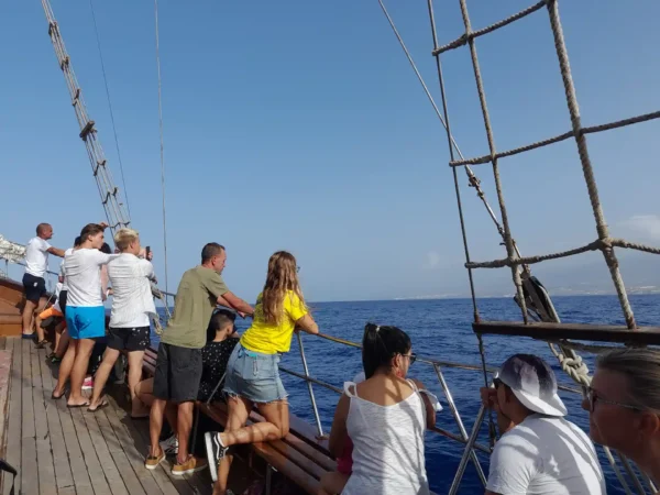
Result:
{"type": "Polygon", "coordinates": [[[140,406],[135,400],[135,386],[142,377],[142,359],[151,344],[151,320],[156,318],[156,306],[150,280],[156,282],[154,267],[141,254],[140,235],[133,229],[121,229],[114,234],[114,245],[121,253],[108,263],[108,276],[112,285],[112,311],[108,327],[108,348],[103,362],[97,370],[90,413],[108,405],[101,402],[101,393],[119,353],[129,353],[129,389],[133,411],[140,406]]]}

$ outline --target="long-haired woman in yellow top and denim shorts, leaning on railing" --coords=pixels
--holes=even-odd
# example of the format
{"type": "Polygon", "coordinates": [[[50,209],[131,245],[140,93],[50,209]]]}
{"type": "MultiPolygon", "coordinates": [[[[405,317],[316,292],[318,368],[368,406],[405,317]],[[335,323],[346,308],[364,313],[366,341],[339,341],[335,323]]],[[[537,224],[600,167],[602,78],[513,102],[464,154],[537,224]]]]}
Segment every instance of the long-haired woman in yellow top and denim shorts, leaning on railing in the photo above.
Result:
{"type": "Polygon", "coordinates": [[[218,482],[215,494],[227,491],[231,455],[224,454],[230,446],[278,440],[288,433],[287,394],[278,363],[298,330],[319,332],[300,290],[296,258],[278,251],[268,260],[268,275],[256,299],[252,327],[241,337],[227,365],[227,428],[222,433],[211,431],[205,436],[211,477],[218,482]],[[265,421],[245,427],[253,405],[265,421]]]}

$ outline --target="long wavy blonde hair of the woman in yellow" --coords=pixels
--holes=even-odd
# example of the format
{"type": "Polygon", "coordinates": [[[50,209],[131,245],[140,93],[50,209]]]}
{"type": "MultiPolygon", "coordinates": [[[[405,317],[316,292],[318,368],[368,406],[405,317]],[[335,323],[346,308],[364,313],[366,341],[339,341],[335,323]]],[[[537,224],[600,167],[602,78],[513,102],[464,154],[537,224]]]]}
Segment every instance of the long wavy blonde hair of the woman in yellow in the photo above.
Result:
{"type": "Polygon", "coordinates": [[[268,260],[268,275],[264,284],[261,305],[257,304],[255,309],[255,317],[263,319],[268,324],[278,324],[284,314],[284,298],[287,297],[289,290],[298,296],[300,305],[307,309],[298,283],[296,258],[286,251],[277,251],[268,260]]]}

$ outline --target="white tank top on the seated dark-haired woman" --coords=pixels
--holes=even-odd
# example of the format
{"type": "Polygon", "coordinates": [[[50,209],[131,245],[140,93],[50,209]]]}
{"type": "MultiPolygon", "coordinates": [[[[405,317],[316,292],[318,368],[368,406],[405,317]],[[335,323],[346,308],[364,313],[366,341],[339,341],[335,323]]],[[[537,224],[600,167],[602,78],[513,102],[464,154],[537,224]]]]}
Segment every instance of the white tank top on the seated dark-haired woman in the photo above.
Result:
{"type": "Polygon", "coordinates": [[[380,406],[358,397],[352,382],[344,383],[351,398],[346,429],[353,442],[353,473],[343,495],[428,495],[424,458],[426,408],[416,385],[408,398],[380,406]]]}

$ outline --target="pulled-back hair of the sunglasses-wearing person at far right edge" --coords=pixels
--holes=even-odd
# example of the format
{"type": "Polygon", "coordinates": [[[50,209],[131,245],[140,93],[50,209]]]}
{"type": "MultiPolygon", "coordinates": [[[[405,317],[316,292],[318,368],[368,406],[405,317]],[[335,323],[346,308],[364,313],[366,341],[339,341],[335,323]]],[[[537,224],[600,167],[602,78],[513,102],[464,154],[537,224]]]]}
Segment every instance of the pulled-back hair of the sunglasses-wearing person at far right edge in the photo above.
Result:
{"type": "Polygon", "coordinates": [[[601,354],[596,366],[626,377],[631,406],[660,415],[660,352],[623,348],[601,354]]]}

